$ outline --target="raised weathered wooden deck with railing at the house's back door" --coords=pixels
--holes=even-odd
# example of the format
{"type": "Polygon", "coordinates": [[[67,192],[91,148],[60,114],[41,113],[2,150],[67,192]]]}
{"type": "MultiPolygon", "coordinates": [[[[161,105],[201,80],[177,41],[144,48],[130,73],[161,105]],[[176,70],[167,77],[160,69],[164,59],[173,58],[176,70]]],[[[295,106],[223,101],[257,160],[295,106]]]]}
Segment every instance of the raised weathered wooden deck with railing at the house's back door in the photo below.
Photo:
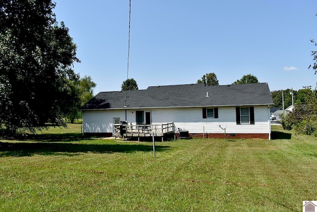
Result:
{"type": "Polygon", "coordinates": [[[168,135],[174,134],[174,123],[160,125],[114,125],[114,137],[124,139],[160,137],[161,141],[168,135]]]}

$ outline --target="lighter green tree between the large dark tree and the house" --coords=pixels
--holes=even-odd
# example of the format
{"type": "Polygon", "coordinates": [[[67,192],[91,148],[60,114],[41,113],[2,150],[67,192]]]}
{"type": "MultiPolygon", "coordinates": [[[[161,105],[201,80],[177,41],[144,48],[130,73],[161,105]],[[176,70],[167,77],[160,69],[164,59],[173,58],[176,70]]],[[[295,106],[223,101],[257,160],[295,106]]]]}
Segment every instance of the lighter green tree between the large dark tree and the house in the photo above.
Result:
{"type": "Polygon", "coordinates": [[[94,97],[94,88],[97,84],[92,81],[91,76],[87,75],[79,81],[70,81],[70,84],[74,87],[73,92],[75,92],[80,99],[80,101],[76,102],[76,104],[71,107],[70,112],[66,116],[70,123],[74,123],[75,119],[82,117],[82,112],[79,108],[94,97]]]}

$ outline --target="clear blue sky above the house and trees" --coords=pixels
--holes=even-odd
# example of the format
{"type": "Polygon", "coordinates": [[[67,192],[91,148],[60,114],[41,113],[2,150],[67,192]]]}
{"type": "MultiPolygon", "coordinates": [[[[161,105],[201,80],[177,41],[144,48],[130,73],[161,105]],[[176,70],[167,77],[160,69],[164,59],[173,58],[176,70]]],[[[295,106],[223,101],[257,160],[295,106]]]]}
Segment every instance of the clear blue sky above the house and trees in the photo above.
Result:
{"type": "MultiPolygon", "coordinates": [[[[53,0],[77,45],[74,70],[97,83],[94,94],[127,79],[129,0],[53,0]]],[[[245,74],[270,90],[316,87],[308,70],[317,47],[317,0],[131,0],[129,78],[139,89],[219,84],[245,74]]]]}

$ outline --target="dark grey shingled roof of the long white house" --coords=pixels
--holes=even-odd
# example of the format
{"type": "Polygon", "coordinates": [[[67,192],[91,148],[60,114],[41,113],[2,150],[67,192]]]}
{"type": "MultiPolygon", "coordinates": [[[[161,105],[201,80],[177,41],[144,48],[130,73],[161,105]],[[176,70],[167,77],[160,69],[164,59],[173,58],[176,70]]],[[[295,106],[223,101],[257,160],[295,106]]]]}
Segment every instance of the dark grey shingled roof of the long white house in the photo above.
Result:
{"type": "Polygon", "coordinates": [[[267,83],[150,86],[146,90],[100,92],[81,110],[201,106],[272,105],[267,83]],[[208,97],[206,97],[208,92],[208,97]],[[126,107],[125,99],[127,96],[126,107]]]}

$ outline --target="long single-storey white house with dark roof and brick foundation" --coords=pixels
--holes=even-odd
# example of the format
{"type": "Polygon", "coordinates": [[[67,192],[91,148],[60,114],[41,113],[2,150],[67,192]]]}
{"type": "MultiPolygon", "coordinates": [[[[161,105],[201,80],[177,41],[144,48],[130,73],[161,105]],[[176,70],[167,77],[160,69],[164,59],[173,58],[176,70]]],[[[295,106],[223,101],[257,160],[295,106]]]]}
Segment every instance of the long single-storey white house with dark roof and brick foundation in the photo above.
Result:
{"type": "Polygon", "coordinates": [[[150,86],[145,90],[100,92],[82,108],[84,135],[114,135],[114,124],[174,123],[191,137],[270,139],[267,83],[150,86]]]}

